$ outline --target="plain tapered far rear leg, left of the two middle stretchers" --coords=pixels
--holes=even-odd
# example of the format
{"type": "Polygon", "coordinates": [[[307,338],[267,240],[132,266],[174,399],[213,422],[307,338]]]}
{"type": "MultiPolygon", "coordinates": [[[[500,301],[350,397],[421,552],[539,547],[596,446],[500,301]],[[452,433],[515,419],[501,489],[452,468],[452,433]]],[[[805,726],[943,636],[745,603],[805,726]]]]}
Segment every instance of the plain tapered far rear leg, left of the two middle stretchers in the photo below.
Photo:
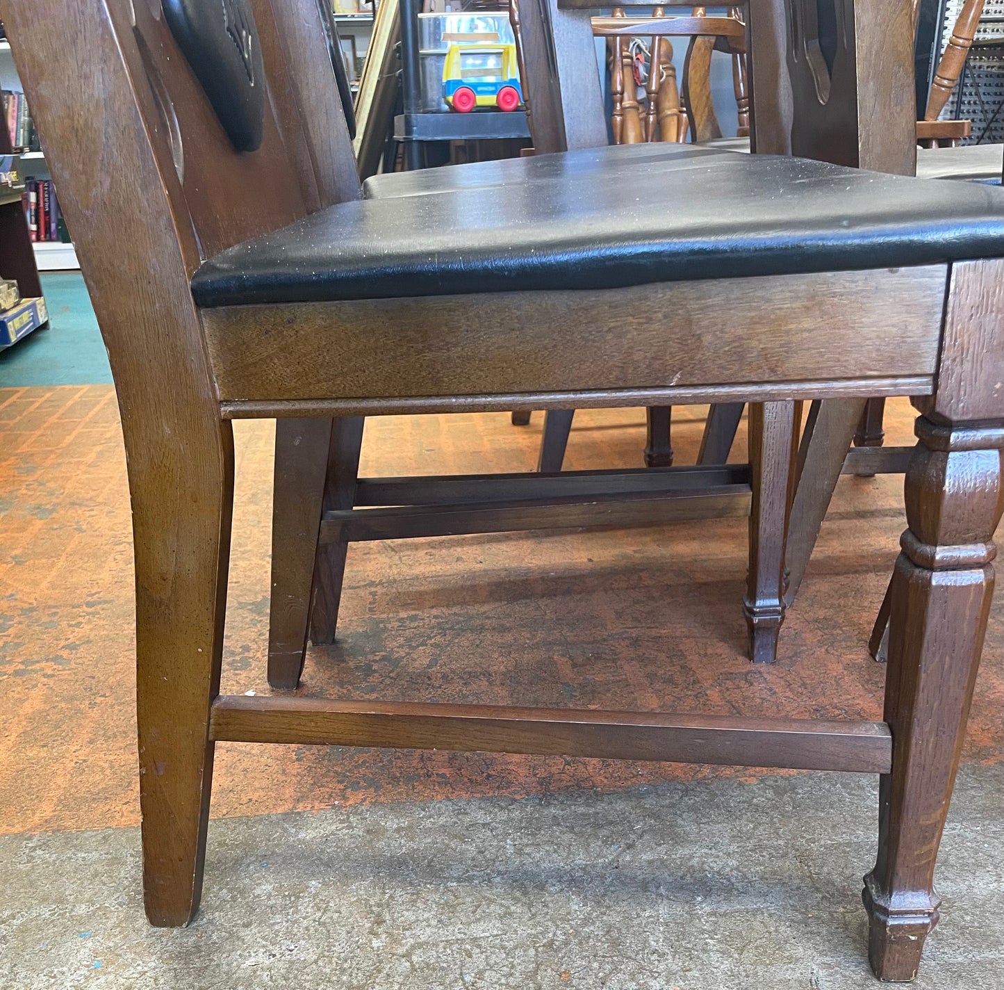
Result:
{"type": "Polygon", "coordinates": [[[326,418],[279,419],[275,424],[268,620],[268,682],[273,687],[295,687],[303,670],[331,425],[326,418]]]}

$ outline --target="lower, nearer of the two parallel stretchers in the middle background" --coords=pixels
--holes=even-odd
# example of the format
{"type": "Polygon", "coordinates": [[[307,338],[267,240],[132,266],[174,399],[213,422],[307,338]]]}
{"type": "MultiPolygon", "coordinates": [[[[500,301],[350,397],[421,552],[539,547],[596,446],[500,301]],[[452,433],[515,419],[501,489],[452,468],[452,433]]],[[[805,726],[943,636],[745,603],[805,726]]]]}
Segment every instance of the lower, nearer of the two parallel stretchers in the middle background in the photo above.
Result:
{"type": "Polygon", "coordinates": [[[746,484],[713,485],[696,491],[670,489],[459,506],[365,509],[325,513],[320,541],[356,543],[589,526],[661,526],[684,520],[746,516],[749,511],[749,486],[746,484]]]}

